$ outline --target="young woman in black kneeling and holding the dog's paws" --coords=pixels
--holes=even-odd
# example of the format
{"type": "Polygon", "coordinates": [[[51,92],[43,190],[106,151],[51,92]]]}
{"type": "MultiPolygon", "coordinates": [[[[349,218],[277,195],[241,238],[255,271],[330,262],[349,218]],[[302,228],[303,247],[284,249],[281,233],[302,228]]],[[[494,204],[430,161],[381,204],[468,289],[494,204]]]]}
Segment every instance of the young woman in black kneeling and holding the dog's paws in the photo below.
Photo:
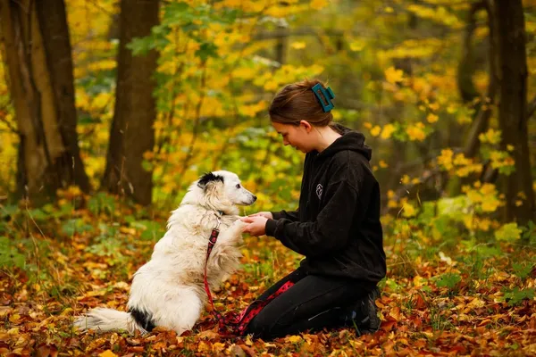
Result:
{"type": "Polygon", "coordinates": [[[297,211],[258,212],[242,220],[253,236],[272,236],[305,255],[297,270],[258,300],[270,302],[247,325],[264,339],[322,328],[380,327],[374,301],[386,264],[380,187],[361,133],[331,122],[334,95],[318,80],[275,95],[270,119],[283,145],[306,153],[297,211]]]}

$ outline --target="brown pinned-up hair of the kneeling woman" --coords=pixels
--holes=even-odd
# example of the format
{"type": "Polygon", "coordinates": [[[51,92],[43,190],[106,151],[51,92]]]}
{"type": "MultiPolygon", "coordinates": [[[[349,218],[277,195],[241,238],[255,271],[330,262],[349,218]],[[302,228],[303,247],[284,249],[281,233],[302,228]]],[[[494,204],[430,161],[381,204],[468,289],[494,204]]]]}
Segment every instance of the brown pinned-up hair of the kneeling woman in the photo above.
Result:
{"type": "Polygon", "coordinates": [[[281,124],[298,125],[300,120],[307,120],[319,127],[330,125],[333,114],[323,111],[322,104],[311,89],[318,83],[325,88],[318,79],[304,79],[283,87],[270,104],[270,120],[281,124]]]}

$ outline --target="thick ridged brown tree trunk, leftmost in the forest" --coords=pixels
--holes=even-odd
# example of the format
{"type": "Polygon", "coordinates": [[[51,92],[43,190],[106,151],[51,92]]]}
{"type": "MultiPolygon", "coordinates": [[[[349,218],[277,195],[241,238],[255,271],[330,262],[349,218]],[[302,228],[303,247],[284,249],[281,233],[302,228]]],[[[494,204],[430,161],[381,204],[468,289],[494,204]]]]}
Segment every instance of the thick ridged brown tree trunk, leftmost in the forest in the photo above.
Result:
{"type": "Polygon", "coordinates": [[[17,190],[37,204],[89,181],[80,158],[63,0],[4,0],[0,20],[20,133],[17,190]]]}

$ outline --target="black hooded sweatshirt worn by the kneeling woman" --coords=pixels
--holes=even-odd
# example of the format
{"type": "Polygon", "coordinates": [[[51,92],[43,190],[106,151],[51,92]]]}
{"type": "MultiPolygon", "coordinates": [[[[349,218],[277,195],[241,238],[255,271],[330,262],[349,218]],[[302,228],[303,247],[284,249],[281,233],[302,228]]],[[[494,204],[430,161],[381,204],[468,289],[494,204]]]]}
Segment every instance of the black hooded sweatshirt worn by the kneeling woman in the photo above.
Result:
{"type": "Polygon", "coordinates": [[[342,137],[321,153],[306,154],[297,211],[272,212],[266,235],[305,255],[300,266],[309,274],[375,284],[386,265],[372,150],[363,134],[337,124],[333,129],[342,137]]]}

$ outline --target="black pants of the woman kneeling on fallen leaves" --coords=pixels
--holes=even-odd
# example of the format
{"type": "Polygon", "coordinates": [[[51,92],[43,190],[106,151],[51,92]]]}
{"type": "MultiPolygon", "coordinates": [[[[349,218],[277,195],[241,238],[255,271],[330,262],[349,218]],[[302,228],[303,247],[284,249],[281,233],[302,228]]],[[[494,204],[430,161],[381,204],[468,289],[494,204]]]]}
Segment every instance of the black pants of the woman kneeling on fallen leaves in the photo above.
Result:
{"type": "Polygon", "coordinates": [[[341,307],[364,298],[375,285],[348,278],[306,275],[297,269],[271,286],[258,300],[265,300],[287,281],[295,284],[264,306],[249,322],[247,333],[269,340],[300,332],[345,325],[341,307]]]}

